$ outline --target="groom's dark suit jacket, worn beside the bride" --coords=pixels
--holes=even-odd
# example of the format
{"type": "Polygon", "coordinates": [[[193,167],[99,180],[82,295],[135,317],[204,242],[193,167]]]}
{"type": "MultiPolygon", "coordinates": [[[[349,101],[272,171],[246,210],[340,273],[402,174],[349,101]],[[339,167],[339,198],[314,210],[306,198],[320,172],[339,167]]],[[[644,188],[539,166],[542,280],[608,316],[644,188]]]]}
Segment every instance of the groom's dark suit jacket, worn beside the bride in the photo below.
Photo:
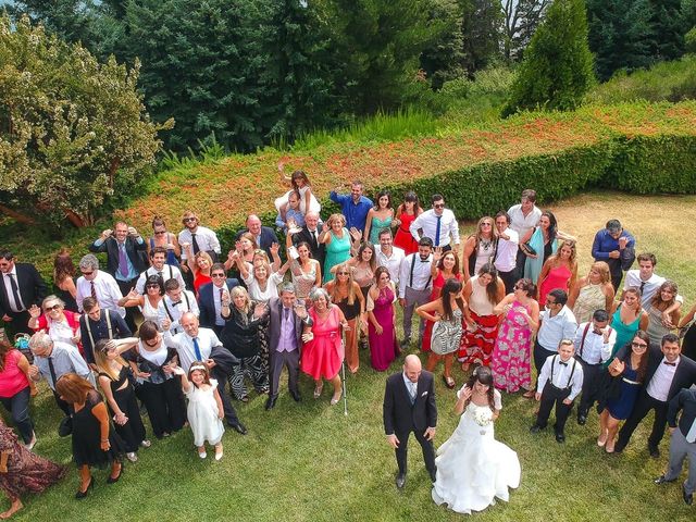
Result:
{"type": "Polygon", "coordinates": [[[437,407],[433,374],[426,371],[421,373],[413,406],[403,383],[403,372],[390,375],[384,391],[382,412],[386,435],[396,434],[399,437],[411,431],[424,433],[427,427],[436,427],[437,407]]]}

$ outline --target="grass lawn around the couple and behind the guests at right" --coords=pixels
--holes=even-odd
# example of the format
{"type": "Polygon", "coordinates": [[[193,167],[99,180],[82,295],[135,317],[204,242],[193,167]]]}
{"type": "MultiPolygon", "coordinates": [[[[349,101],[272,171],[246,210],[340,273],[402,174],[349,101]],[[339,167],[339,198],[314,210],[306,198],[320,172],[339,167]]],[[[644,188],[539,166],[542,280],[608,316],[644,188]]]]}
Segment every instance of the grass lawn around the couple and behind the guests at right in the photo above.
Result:
{"type": "MultiPolygon", "coordinates": [[[[594,233],[610,217],[619,217],[635,234],[638,251],[658,257],[658,273],[674,278],[685,296],[685,308],[696,295],[696,268],[689,237],[682,223],[696,220],[695,196],[632,197],[617,192],[593,192],[551,204],[561,229],[579,238],[581,272],[591,263],[594,233]]],[[[462,226],[463,232],[471,223],[462,226]]],[[[410,351],[415,351],[411,347],[410,351]]],[[[406,488],[394,486],[396,461],[382,431],[382,396],[386,374],[374,372],[369,353],[361,351],[361,369],[348,376],[348,417],[343,408],[328,406],[328,388],[319,401],[311,398],[312,383],[302,378],[303,400],[295,403],[285,388],[271,412],[264,397],[253,396],[238,405],[249,435],[228,431],[221,462],[200,461],[192,437],[184,431],[156,440],[140,451],[135,464],[127,463],[122,480],[104,484],[107,472],[97,471],[94,493],[83,501],[72,498],[77,474],[71,471],[61,484],[40,496],[25,498],[16,520],[231,520],[238,521],[400,521],[462,520],[430,497],[430,483],[415,440],[410,440],[406,488]]],[[[397,371],[399,363],[393,364],[397,371]]],[[[442,371],[440,369],[437,369],[442,371]]],[[[463,376],[457,371],[458,383],[463,376]]],[[[452,391],[436,381],[439,422],[436,445],[453,431],[452,391]]],[[[70,438],[55,434],[58,409],[42,389],[35,400],[39,442],[37,452],[70,461],[70,438]]],[[[476,514],[480,521],[575,521],[575,520],[694,520],[693,508],[681,498],[679,484],[655,486],[651,478],[667,463],[646,451],[649,423],[644,422],[624,453],[607,456],[597,448],[597,421],[586,426],[569,422],[566,445],[552,433],[532,436],[534,403],[519,395],[504,397],[496,436],[519,455],[522,482],[509,504],[500,502],[476,514]]],[[[649,419],[648,419],[649,420],[649,419]]],[[[0,501],[4,509],[7,501],[0,501]]]]}

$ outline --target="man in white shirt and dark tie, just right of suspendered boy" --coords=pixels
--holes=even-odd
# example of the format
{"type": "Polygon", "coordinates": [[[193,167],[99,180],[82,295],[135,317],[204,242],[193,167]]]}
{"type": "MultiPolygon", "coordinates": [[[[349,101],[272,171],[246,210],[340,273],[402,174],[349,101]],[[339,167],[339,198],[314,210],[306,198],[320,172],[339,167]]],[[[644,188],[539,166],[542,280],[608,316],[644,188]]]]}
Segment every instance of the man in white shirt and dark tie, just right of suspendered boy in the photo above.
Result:
{"type": "Polygon", "coordinates": [[[583,395],[577,406],[577,424],[587,422],[587,413],[598,399],[602,363],[609,360],[617,332],[609,326],[606,310],[596,310],[592,321],[582,323],[575,332],[575,357],[583,365],[583,395]]]}

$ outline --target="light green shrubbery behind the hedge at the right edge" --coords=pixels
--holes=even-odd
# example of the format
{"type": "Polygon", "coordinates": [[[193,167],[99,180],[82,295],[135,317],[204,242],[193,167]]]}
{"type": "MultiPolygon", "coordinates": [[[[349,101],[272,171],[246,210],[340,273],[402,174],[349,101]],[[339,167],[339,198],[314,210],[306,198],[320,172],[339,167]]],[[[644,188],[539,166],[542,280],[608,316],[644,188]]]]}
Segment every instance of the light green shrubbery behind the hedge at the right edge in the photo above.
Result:
{"type": "Polygon", "coordinates": [[[617,73],[609,82],[595,86],[585,97],[587,102],[598,104],[686,99],[696,99],[696,57],[693,55],[658,63],[648,71],[617,73]]]}

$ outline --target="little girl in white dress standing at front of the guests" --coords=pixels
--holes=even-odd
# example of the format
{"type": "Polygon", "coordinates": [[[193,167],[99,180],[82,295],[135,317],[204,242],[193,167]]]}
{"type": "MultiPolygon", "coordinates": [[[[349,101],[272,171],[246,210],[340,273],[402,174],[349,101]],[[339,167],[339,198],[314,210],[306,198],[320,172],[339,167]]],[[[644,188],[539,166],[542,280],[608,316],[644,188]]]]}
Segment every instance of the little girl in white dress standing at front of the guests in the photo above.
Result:
{"type": "Polygon", "coordinates": [[[188,422],[194,432],[194,444],[198,447],[201,459],[208,457],[206,440],[215,447],[215,460],[222,459],[222,424],[224,411],[222,399],[217,393],[217,381],[210,378],[208,368],[200,361],[195,361],[186,372],[179,366],[174,369],[176,375],[182,376],[182,388],[188,398],[188,422]]]}

